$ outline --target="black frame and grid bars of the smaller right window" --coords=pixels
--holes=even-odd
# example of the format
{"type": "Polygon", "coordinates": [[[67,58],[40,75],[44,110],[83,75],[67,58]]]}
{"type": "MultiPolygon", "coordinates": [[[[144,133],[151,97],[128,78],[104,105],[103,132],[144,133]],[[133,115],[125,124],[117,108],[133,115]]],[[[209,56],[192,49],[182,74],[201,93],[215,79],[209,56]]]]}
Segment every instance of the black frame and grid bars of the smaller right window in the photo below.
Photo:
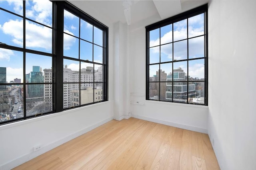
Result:
{"type": "MultiPolygon", "coordinates": [[[[145,27],[146,28],[146,100],[151,100],[151,101],[161,101],[161,102],[171,102],[171,103],[181,103],[181,104],[192,104],[192,105],[200,105],[200,106],[208,106],[208,4],[204,4],[202,6],[199,6],[197,8],[194,8],[192,10],[188,10],[186,12],[183,12],[181,14],[178,14],[176,16],[172,16],[170,18],[167,18],[165,20],[162,20],[162,21],[158,21],[156,23],[153,23],[151,25],[148,25],[145,27]],[[150,61],[149,61],[149,50],[150,50],[150,31],[154,30],[154,29],[160,29],[160,27],[164,27],[166,25],[169,25],[169,24],[172,24],[172,27],[173,27],[173,23],[175,22],[178,22],[178,21],[182,21],[182,20],[185,20],[187,19],[187,26],[188,26],[188,18],[190,17],[193,17],[193,16],[196,16],[196,15],[199,15],[199,14],[202,14],[204,13],[204,57],[201,57],[201,58],[196,58],[196,59],[184,59],[184,60],[172,60],[170,62],[159,62],[159,63],[152,63],[150,64],[150,61]],[[198,60],[198,59],[204,59],[204,81],[190,81],[189,78],[187,77],[187,80],[186,81],[183,81],[183,82],[186,82],[187,83],[187,89],[189,89],[189,83],[190,82],[204,82],[204,104],[197,104],[197,103],[190,103],[188,101],[188,92],[187,92],[187,100],[186,102],[176,102],[174,101],[174,95],[172,95],[172,100],[171,101],[166,101],[166,100],[160,100],[160,91],[161,91],[161,88],[160,88],[160,83],[167,83],[167,80],[166,81],[161,81],[161,78],[159,76],[159,80],[158,81],[154,81],[156,83],[159,83],[159,89],[158,89],[158,99],[157,100],[153,100],[153,99],[150,99],[149,98],[149,93],[150,93],[150,75],[149,75],[149,69],[150,69],[150,65],[154,65],[154,64],[164,64],[164,63],[172,63],[172,94],[173,94],[173,85],[175,83],[175,81],[173,80],[173,63],[176,63],[176,62],[180,62],[180,61],[186,61],[187,62],[187,70],[188,70],[188,61],[192,61],[192,60],[198,60]]],[[[173,31],[173,29],[172,29],[173,31]]],[[[200,35],[202,36],[202,35],[200,35]]],[[[195,37],[200,37],[200,36],[195,36],[195,37]]],[[[188,43],[188,40],[191,39],[191,38],[195,38],[195,37],[188,37],[188,27],[187,27],[187,37],[186,39],[182,39],[182,40],[178,40],[178,41],[183,41],[183,40],[187,40],[187,43],[188,43]]],[[[172,36],[173,38],[173,36],[172,36]]],[[[175,43],[175,42],[178,42],[178,41],[172,41],[172,44],[175,43]]],[[[161,46],[161,44],[159,45],[161,46]]],[[[151,47],[152,48],[152,47],[151,47]]],[[[188,45],[187,45],[187,50],[188,50],[188,45]]],[[[172,53],[173,53],[174,49],[172,48],[172,53]]],[[[187,51],[188,53],[188,51],[187,51]]],[[[160,74],[160,68],[159,68],[159,74],[160,74]]]]}

